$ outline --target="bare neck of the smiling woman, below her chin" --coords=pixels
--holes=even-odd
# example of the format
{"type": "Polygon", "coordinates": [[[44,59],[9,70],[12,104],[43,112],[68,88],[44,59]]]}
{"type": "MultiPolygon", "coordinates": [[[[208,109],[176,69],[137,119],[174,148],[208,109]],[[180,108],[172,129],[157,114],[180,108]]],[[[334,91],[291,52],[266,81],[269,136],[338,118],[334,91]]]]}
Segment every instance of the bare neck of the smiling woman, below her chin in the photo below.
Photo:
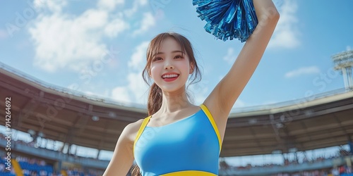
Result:
{"type": "Polygon", "coordinates": [[[189,106],[192,106],[192,104],[186,96],[185,89],[181,89],[177,92],[163,92],[160,112],[174,113],[189,106]]]}

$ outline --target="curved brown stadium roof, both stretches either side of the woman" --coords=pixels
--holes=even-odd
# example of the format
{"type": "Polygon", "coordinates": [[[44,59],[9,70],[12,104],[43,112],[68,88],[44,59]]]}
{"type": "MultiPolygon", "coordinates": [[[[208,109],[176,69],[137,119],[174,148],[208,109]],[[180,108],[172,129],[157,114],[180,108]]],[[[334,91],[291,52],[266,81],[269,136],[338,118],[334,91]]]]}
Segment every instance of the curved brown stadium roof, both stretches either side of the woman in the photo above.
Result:
{"type": "MultiPolygon", "coordinates": [[[[11,127],[42,132],[47,139],[113,151],[128,123],[144,108],[48,86],[0,65],[0,114],[11,97],[11,127]]],[[[287,153],[347,144],[353,134],[353,92],[306,97],[287,106],[231,113],[221,156],[287,153]]],[[[0,119],[5,125],[6,119],[0,119]]]]}

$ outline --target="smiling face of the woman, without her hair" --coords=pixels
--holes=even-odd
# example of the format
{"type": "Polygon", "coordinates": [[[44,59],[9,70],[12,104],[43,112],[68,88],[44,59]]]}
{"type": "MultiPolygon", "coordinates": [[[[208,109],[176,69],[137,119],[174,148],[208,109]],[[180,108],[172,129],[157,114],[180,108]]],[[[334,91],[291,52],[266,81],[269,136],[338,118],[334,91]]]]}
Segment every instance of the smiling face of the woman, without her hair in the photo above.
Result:
{"type": "Polygon", "coordinates": [[[152,56],[150,76],[164,92],[185,89],[192,71],[193,64],[189,62],[189,57],[172,37],[164,39],[160,51],[152,56]]]}

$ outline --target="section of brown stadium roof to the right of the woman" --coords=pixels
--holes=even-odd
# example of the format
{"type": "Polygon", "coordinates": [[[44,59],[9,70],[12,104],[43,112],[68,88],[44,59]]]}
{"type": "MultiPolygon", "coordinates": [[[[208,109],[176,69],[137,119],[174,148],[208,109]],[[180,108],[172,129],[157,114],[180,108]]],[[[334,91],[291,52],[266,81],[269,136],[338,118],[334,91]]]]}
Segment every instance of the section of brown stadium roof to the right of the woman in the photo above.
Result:
{"type": "Polygon", "coordinates": [[[353,92],[229,115],[222,156],[306,151],[353,138],[353,92]]]}

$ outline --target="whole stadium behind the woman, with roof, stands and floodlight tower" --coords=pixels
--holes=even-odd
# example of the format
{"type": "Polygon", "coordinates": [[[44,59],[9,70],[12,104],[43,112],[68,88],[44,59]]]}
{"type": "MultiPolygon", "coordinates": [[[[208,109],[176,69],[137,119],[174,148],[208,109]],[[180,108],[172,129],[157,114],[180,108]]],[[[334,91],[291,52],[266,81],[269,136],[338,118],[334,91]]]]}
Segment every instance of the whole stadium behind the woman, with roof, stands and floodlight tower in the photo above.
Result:
{"type": "MultiPolygon", "coordinates": [[[[353,175],[352,71],[347,71],[352,51],[333,59],[336,69],[345,74],[345,89],[242,108],[229,115],[220,175],[353,175]],[[306,156],[306,151],[330,146],[340,146],[335,156],[306,156]],[[283,157],[282,164],[266,161],[260,166],[237,167],[225,159],[276,153],[283,157]]],[[[4,117],[0,122],[5,130],[0,142],[0,175],[4,176],[102,175],[109,160],[100,159],[100,152],[114,151],[124,127],[146,116],[144,108],[45,84],[4,63],[0,85],[4,117]],[[19,132],[28,134],[31,142],[11,139],[19,132]],[[61,146],[55,146],[56,142],[61,146]],[[95,156],[79,156],[77,146],[97,152],[95,156]]]]}

